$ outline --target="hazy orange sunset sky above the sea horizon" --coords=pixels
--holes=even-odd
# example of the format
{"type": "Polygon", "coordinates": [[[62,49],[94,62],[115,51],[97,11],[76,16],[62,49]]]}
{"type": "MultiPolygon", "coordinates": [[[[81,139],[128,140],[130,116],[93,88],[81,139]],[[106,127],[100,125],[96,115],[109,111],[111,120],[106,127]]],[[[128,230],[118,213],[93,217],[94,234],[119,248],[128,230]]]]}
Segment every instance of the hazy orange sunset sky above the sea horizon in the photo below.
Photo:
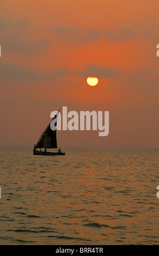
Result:
{"type": "Polygon", "coordinates": [[[109,111],[109,135],[60,131],[63,147],[159,147],[158,27],[158,0],[3,1],[0,145],[34,144],[68,106],[109,111]]]}

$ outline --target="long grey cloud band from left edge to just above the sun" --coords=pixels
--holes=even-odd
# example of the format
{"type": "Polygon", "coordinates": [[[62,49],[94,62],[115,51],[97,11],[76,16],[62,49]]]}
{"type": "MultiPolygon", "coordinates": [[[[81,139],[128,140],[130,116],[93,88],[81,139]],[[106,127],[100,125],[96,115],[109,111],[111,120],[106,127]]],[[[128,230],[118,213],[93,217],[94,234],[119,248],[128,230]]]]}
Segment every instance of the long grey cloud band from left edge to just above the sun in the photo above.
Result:
{"type": "Polygon", "coordinates": [[[38,70],[24,68],[20,65],[10,65],[0,63],[0,77],[1,80],[14,81],[14,82],[49,82],[57,81],[62,76],[98,76],[100,78],[117,77],[118,72],[106,66],[88,66],[86,70],[53,70],[49,73],[43,73],[38,70]]]}

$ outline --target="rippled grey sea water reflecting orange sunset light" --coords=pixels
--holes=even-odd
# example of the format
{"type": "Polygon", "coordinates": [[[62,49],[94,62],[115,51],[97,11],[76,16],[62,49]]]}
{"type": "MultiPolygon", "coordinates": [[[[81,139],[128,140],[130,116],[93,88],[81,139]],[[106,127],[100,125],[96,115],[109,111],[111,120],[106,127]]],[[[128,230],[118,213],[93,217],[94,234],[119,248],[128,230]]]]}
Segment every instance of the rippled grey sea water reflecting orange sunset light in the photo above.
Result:
{"type": "Polygon", "coordinates": [[[0,156],[1,245],[159,244],[157,151],[0,156]]]}

